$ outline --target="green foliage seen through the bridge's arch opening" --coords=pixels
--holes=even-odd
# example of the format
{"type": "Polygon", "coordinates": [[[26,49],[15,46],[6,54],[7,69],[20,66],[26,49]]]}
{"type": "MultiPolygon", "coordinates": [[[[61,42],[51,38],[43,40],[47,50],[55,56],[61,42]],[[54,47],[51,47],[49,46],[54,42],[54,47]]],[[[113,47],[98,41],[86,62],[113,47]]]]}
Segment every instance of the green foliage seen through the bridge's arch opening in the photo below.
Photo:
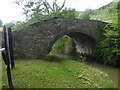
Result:
{"type": "Polygon", "coordinates": [[[73,55],[75,53],[75,46],[74,46],[74,41],[72,40],[71,37],[65,35],[61,38],[59,38],[54,45],[52,46],[51,49],[51,54],[69,54],[73,55]]]}

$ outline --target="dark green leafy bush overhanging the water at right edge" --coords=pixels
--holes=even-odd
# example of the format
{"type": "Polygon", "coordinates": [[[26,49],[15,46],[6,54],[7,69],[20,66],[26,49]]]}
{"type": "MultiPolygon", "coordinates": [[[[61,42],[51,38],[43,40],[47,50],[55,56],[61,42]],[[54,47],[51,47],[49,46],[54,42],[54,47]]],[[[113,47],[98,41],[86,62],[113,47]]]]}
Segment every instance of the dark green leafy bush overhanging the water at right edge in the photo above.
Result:
{"type": "Polygon", "coordinates": [[[99,42],[97,50],[105,64],[118,65],[120,63],[120,36],[118,28],[107,25],[104,33],[105,38],[99,42]]]}

